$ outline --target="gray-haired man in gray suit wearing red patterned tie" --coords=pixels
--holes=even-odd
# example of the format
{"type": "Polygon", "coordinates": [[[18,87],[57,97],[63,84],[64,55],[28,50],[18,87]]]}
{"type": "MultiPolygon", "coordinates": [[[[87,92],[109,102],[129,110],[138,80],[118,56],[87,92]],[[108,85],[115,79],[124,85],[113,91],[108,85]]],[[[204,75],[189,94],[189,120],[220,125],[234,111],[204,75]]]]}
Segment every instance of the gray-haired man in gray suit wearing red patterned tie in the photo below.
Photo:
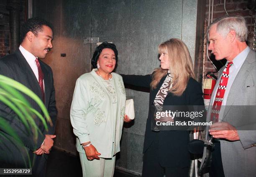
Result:
{"type": "MultiPolygon", "coordinates": [[[[220,69],[207,112],[207,121],[218,117],[206,129],[215,138],[210,177],[254,177],[256,53],[246,44],[246,20],[223,17],[213,22],[208,32],[209,50],[215,59],[227,59],[226,66],[220,69]]],[[[206,147],[202,162],[205,157],[206,147]]]]}

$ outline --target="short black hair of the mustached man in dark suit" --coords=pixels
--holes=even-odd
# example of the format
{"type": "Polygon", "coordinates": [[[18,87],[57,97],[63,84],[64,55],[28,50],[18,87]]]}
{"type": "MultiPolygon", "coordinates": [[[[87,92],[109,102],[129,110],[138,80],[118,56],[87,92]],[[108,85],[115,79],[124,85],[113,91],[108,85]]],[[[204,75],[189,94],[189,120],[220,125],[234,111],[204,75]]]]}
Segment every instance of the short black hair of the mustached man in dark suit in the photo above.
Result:
{"type": "Polygon", "coordinates": [[[31,31],[34,35],[37,35],[38,32],[41,32],[43,25],[51,28],[51,24],[44,19],[38,17],[32,17],[28,19],[22,26],[20,30],[20,42],[24,40],[26,34],[31,31]]]}

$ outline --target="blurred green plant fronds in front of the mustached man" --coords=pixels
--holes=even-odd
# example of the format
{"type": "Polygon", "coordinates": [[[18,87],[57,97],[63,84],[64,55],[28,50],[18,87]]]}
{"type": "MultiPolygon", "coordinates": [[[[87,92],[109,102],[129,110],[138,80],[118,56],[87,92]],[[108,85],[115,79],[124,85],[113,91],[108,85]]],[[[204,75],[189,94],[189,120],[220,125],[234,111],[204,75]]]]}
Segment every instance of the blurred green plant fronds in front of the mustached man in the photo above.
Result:
{"type": "MultiPolygon", "coordinates": [[[[17,117],[14,118],[19,117],[21,122],[25,125],[26,129],[31,130],[34,133],[34,140],[38,138],[38,132],[42,134],[42,132],[39,130],[38,126],[35,123],[35,116],[41,120],[46,130],[48,130],[46,121],[49,122],[50,125],[52,125],[49,113],[41,99],[26,86],[3,75],[0,75],[0,101],[13,110],[13,112],[17,115],[17,117]],[[31,97],[39,105],[45,118],[37,110],[31,107],[31,105],[21,94],[21,92],[25,95],[28,95],[28,97],[31,97]]],[[[18,147],[18,144],[22,144],[15,130],[13,130],[12,127],[9,125],[9,122],[2,117],[0,117],[0,130],[0,137],[8,139],[8,136],[5,136],[5,134],[3,134],[3,132],[5,132],[6,134],[13,137],[15,142],[17,142],[16,144],[15,142],[13,142],[15,146],[18,147]]],[[[11,139],[10,141],[12,141],[13,139],[11,139]]],[[[24,150],[26,151],[27,157],[29,157],[28,150],[26,148],[24,150]]],[[[24,157],[25,156],[23,156],[24,162],[26,162],[24,157]]],[[[31,159],[28,158],[28,160],[31,167],[31,159]]]]}

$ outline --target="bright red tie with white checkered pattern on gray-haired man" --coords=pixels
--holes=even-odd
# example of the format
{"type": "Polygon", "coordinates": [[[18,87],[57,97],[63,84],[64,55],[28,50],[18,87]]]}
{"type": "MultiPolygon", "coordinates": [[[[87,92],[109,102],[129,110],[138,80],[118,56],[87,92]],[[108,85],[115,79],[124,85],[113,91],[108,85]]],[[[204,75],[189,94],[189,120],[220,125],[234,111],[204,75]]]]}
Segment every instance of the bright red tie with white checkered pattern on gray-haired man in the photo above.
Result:
{"type": "Polygon", "coordinates": [[[220,108],[222,105],[225,90],[227,88],[228,77],[229,77],[229,68],[231,65],[233,65],[233,62],[228,62],[226,64],[226,67],[223,70],[222,76],[220,78],[220,84],[218,86],[218,90],[217,90],[215,100],[212,105],[212,111],[211,111],[211,121],[214,121],[214,122],[218,122],[218,120],[219,120],[220,108]]]}

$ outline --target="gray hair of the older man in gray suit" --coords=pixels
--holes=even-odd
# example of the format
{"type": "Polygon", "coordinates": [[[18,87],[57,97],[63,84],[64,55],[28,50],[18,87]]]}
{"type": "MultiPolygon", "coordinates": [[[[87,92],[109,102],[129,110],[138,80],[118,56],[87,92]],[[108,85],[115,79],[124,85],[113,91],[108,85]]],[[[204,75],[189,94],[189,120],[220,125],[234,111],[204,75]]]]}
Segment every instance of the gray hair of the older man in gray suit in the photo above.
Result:
{"type": "Polygon", "coordinates": [[[241,16],[233,16],[233,17],[221,17],[208,27],[208,32],[210,31],[213,25],[217,24],[217,30],[220,35],[226,37],[230,30],[234,30],[236,32],[236,37],[241,42],[245,42],[247,40],[248,29],[246,25],[246,20],[241,16]]]}

